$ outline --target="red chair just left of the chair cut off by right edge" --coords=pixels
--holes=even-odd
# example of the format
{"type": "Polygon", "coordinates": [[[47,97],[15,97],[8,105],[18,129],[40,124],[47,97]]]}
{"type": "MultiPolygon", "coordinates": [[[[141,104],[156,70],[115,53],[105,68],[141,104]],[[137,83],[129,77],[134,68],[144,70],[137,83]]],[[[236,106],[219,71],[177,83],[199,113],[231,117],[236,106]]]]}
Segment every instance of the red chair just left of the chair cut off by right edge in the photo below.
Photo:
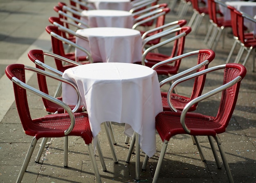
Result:
{"type": "MultiPolygon", "coordinates": [[[[208,11],[209,11],[209,19],[211,22],[211,27],[208,29],[208,32],[204,39],[204,43],[207,43],[207,46],[209,47],[209,49],[213,49],[213,50],[218,45],[218,41],[220,39],[222,31],[225,31],[225,28],[227,27],[231,27],[231,20],[225,20],[224,16],[220,14],[220,11],[218,11],[217,7],[218,7],[218,4],[215,2],[215,0],[208,0],[208,11]],[[209,38],[211,32],[212,32],[212,35],[209,38]],[[208,38],[209,38],[209,41],[208,41],[208,38]]],[[[225,32],[223,33],[223,38],[222,38],[222,48],[224,47],[224,40],[225,40],[225,32]]]]}

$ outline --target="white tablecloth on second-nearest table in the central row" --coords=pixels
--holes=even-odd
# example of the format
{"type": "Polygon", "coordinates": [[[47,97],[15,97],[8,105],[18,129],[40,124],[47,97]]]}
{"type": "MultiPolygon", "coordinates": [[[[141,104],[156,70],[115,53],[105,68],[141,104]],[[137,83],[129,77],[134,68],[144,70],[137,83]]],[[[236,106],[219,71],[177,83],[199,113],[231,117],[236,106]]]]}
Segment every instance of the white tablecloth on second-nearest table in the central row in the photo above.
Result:
{"type": "MultiPolygon", "coordinates": [[[[76,38],[76,44],[90,51],[94,62],[141,61],[142,39],[138,30],[119,27],[95,27],[79,29],[79,35],[89,39],[76,38]]],[[[85,56],[79,49],[76,56],[85,56]]]]}

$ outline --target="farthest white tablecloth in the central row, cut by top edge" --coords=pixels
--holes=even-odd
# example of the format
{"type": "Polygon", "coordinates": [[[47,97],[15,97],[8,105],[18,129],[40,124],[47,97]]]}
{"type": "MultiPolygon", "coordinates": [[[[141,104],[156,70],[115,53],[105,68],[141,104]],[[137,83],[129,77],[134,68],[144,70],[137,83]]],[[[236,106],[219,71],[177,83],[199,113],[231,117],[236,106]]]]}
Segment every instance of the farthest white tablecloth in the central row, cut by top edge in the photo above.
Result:
{"type": "Polygon", "coordinates": [[[132,4],[130,0],[88,0],[94,9],[112,9],[130,11],[132,4]]]}

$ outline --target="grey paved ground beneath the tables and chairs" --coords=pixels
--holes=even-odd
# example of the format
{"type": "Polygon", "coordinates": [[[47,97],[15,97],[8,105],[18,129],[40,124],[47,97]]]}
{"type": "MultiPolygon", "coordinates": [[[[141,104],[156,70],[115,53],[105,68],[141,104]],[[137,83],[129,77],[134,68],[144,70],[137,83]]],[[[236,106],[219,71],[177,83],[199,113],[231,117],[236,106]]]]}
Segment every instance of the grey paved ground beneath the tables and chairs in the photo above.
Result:
{"type": "MultiPolygon", "coordinates": [[[[53,6],[57,0],[0,0],[0,182],[14,182],[17,179],[23,158],[26,155],[31,137],[25,136],[12,91],[11,81],[4,75],[4,69],[11,63],[24,63],[33,65],[27,58],[30,49],[43,49],[50,51],[51,43],[49,35],[45,32],[45,26],[49,25],[48,17],[56,16],[53,6]]],[[[64,0],[67,2],[67,0],[64,0]]],[[[161,2],[165,2],[162,0],[161,2]]],[[[166,22],[177,20],[177,6],[166,17],[166,22]]],[[[186,15],[186,20],[191,18],[192,9],[186,15]]],[[[190,34],[186,38],[185,51],[207,48],[203,43],[206,34],[206,22],[204,19],[199,27],[197,35],[190,34]]],[[[218,45],[216,59],[211,66],[224,64],[233,44],[230,30],[225,36],[225,46],[218,45]]],[[[161,51],[167,52],[166,46],[161,51]]],[[[237,50],[236,50],[237,51],[237,50]]],[[[194,59],[185,59],[181,70],[194,65],[194,59]]],[[[47,60],[54,66],[52,60],[47,60]]],[[[236,183],[256,182],[256,86],[255,73],[251,70],[252,58],[246,64],[247,76],[242,81],[238,102],[233,117],[227,128],[227,132],[220,135],[225,148],[227,160],[231,167],[236,183]]],[[[205,92],[221,84],[221,74],[207,75],[205,92]]],[[[36,77],[31,77],[29,83],[36,86],[36,77]]],[[[50,91],[54,92],[56,83],[51,83],[50,91]]],[[[187,94],[191,90],[191,83],[179,86],[178,92],[187,94]]],[[[214,113],[218,105],[218,97],[200,103],[198,111],[214,113]]],[[[43,116],[47,113],[43,109],[40,98],[29,95],[32,107],[32,116],[43,116]]],[[[101,148],[107,165],[107,172],[100,170],[102,182],[136,182],[135,179],[135,155],[130,164],[125,162],[128,145],[124,143],[124,125],[113,123],[117,145],[115,146],[119,162],[113,163],[109,153],[109,144],[106,140],[105,130],[102,128],[99,138],[101,148]]],[[[206,162],[200,160],[195,145],[190,136],[178,135],[171,139],[162,165],[158,182],[169,183],[226,183],[228,182],[225,169],[218,170],[214,162],[209,142],[206,137],[200,137],[200,142],[206,156],[206,162]]],[[[162,147],[162,141],[157,135],[157,152],[149,159],[147,169],[141,172],[141,180],[151,182],[158,156],[162,147]]],[[[94,182],[94,174],[88,157],[87,147],[81,138],[69,139],[69,167],[63,167],[63,138],[53,138],[45,147],[45,152],[39,164],[34,163],[39,144],[31,158],[25,183],[80,183],[94,182]]],[[[97,163],[100,167],[99,158],[97,163]]],[[[141,161],[144,153],[141,152],[141,161]]]]}

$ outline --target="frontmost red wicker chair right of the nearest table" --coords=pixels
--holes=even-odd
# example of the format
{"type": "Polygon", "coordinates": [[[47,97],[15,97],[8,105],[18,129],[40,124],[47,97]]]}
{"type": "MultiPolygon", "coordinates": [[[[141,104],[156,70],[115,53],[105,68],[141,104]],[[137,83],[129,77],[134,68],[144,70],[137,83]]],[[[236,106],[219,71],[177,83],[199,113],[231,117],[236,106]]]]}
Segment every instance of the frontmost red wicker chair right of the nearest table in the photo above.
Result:
{"type": "MultiPolygon", "coordinates": [[[[190,78],[195,78],[202,74],[206,74],[216,70],[224,70],[223,75],[223,85],[199,96],[192,100],[189,104],[184,107],[182,112],[160,112],[156,116],[156,129],[163,141],[162,150],[159,156],[159,160],[157,163],[157,167],[155,170],[155,175],[153,179],[153,183],[157,182],[157,178],[160,174],[161,165],[164,159],[164,154],[166,152],[166,148],[168,145],[168,141],[172,136],[177,134],[189,134],[192,136],[208,136],[211,149],[213,150],[213,155],[216,159],[216,163],[218,168],[221,167],[220,161],[218,159],[218,154],[216,152],[213,139],[216,140],[218,144],[218,148],[220,150],[220,154],[222,157],[223,164],[225,166],[227,176],[230,183],[234,183],[232,174],[229,168],[229,164],[227,159],[225,158],[225,152],[222,149],[222,143],[218,134],[221,134],[226,131],[226,128],[229,124],[229,120],[234,112],[234,108],[236,106],[236,100],[238,98],[238,92],[240,87],[241,80],[245,77],[246,68],[240,64],[226,64],[226,65],[219,65],[216,67],[211,67],[209,69],[197,72],[190,76],[186,76],[177,80],[173,83],[172,87],[170,88],[169,94],[173,90],[177,84],[188,80],[190,78]],[[218,108],[218,113],[216,116],[211,116],[211,114],[205,115],[200,113],[191,113],[188,112],[192,105],[209,98],[219,92],[222,92],[222,96],[220,98],[220,105],[218,108]]],[[[171,101],[169,101],[171,103],[171,101]]],[[[197,139],[197,138],[195,138],[197,139]]],[[[198,140],[197,140],[198,141],[198,140]]],[[[196,143],[198,145],[198,149],[200,148],[199,141],[196,143]]],[[[145,161],[144,161],[145,163],[145,161]]],[[[226,182],[226,181],[225,181],[226,182]]]]}

